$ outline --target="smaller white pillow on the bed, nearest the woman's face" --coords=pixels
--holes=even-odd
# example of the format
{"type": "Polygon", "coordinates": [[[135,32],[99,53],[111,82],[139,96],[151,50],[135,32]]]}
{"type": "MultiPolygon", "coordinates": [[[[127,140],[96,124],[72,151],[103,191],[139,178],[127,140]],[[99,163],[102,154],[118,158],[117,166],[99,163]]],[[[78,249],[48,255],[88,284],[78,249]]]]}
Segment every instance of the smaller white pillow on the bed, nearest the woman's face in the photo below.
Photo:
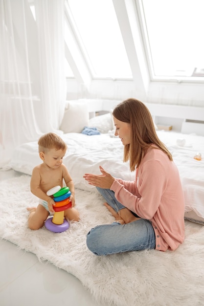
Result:
{"type": "Polygon", "coordinates": [[[104,115],[99,115],[89,120],[90,128],[97,128],[100,133],[108,133],[113,130],[112,114],[109,112],[104,115]]]}

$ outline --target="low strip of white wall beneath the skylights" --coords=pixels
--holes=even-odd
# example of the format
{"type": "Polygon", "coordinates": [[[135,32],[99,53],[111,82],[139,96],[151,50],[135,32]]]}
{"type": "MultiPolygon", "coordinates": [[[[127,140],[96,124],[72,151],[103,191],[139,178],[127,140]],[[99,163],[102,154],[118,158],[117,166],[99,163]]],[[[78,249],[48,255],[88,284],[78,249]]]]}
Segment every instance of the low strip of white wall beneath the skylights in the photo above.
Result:
{"type": "Polygon", "coordinates": [[[204,85],[192,83],[150,82],[146,98],[137,92],[134,81],[92,80],[87,87],[67,80],[67,99],[96,98],[204,107],[204,85]]]}

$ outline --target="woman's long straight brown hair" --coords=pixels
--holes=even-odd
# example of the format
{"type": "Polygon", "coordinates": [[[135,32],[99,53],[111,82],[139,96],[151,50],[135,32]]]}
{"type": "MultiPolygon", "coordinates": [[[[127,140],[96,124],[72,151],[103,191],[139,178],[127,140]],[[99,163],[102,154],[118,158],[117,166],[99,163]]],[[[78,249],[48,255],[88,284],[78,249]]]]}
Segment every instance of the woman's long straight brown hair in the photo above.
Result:
{"type": "Polygon", "coordinates": [[[131,143],[124,146],[123,161],[130,161],[130,170],[135,171],[139,167],[146,150],[152,148],[162,150],[170,160],[172,154],[159,140],[152,115],[149,109],[139,100],[127,99],[113,109],[113,116],[122,122],[130,123],[131,143]]]}

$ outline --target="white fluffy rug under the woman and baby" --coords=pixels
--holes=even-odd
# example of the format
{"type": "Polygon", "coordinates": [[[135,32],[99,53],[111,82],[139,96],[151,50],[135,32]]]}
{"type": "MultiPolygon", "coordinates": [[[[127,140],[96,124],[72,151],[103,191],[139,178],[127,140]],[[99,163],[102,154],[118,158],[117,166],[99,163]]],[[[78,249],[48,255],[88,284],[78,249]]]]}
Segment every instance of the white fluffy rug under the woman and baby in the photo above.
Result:
{"type": "Polygon", "coordinates": [[[30,176],[0,182],[0,237],[76,276],[105,306],[204,305],[204,226],[185,221],[185,242],[175,251],[151,250],[95,256],[86,246],[91,227],[113,217],[95,192],[76,189],[81,221],[68,231],[27,228],[30,176]]]}

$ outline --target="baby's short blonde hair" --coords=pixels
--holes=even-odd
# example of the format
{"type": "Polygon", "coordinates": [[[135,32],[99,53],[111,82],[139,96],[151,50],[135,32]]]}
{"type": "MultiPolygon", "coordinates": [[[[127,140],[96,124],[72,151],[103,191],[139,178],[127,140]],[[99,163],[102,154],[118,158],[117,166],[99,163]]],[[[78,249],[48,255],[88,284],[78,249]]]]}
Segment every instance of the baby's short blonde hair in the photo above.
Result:
{"type": "Polygon", "coordinates": [[[47,152],[50,149],[65,150],[67,149],[67,144],[64,140],[55,133],[47,133],[40,137],[38,140],[39,153],[47,152]]]}

